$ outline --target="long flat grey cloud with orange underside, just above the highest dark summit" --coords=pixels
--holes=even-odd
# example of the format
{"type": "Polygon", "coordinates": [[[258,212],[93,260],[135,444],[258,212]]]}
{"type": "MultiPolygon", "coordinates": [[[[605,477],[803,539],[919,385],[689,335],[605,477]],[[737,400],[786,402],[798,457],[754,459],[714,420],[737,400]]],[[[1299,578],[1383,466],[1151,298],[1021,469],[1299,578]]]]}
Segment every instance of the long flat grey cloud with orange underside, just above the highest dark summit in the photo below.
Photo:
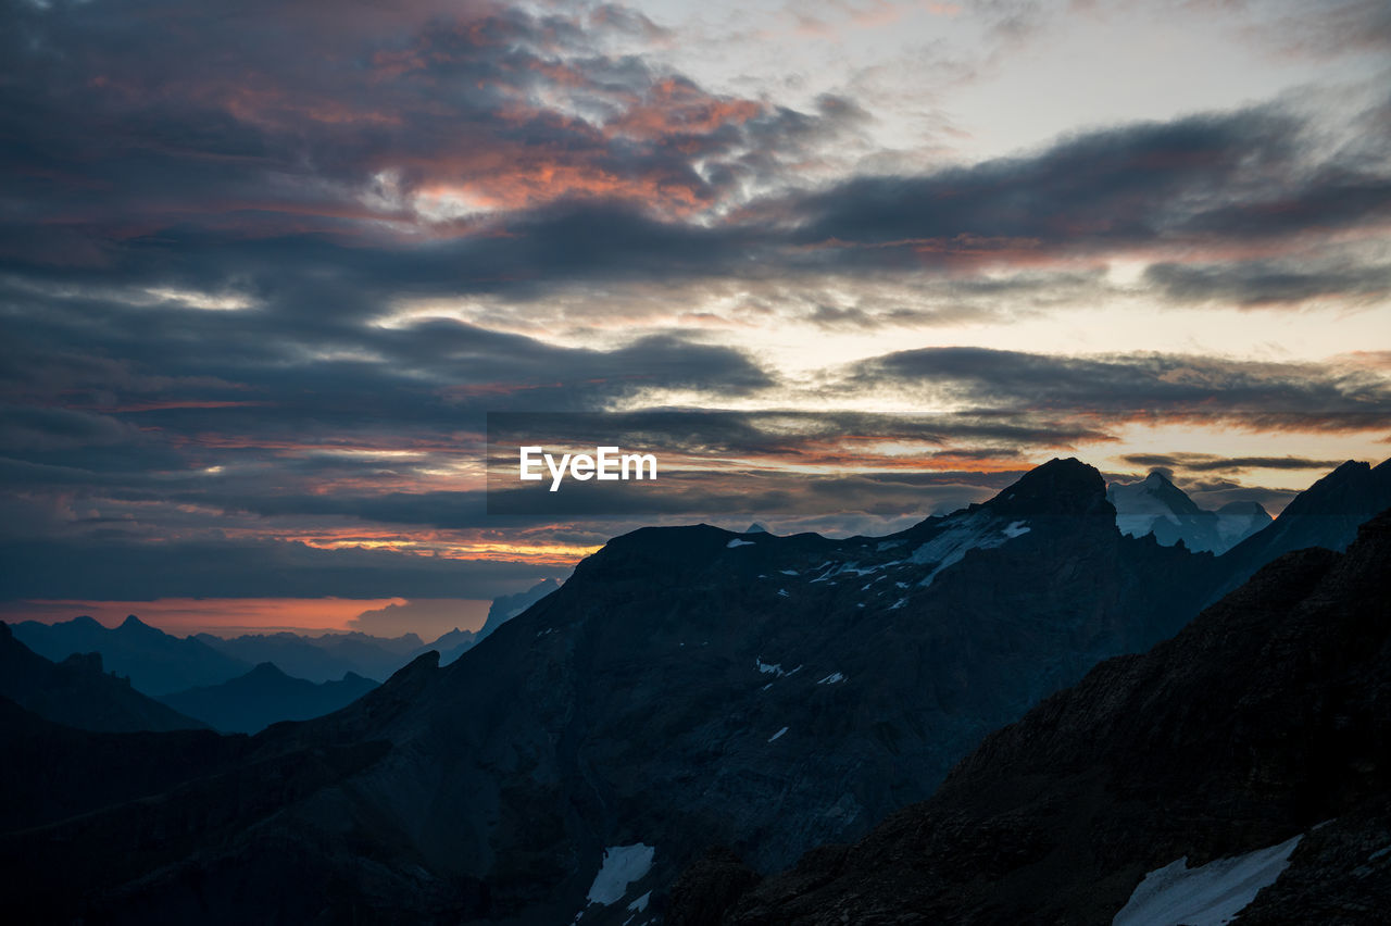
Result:
{"type": "Polygon", "coordinates": [[[1195,355],[1067,357],[928,348],[857,363],[846,385],[983,407],[1095,413],[1117,423],[1205,419],[1337,431],[1384,428],[1391,416],[1391,385],[1378,375],[1195,355]]]}

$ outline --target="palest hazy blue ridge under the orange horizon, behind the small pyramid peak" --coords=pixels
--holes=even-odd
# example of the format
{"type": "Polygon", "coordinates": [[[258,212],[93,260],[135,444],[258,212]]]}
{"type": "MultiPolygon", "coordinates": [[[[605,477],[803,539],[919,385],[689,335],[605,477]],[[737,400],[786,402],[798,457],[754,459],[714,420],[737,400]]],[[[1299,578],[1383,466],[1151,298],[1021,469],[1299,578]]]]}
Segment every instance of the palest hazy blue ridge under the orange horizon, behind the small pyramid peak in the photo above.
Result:
{"type": "Polygon", "coordinates": [[[227,638],[198,634],[195,640],[246,665],[273,662],[296,679],[316,683],[334,681],[349,672],[380,681],[410,662],[421,647],[416,634],[395,638],[363,633],[310,637],[282,631],[227,638]]]}

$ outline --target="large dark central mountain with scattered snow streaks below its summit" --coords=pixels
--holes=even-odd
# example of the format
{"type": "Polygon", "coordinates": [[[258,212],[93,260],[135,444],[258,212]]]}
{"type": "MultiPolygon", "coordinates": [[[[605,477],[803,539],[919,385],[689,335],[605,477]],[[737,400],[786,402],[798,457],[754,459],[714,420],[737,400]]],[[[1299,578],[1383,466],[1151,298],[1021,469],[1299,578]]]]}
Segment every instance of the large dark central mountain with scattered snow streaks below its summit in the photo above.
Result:
{"type": "MultiPolygon", "coordinates": [[[[83,890],[64,902],[111,922],[305,919],[306,895],[332,895],[360,919],[622,923],[712,841],[773,870],[857,838],[989,730],[1175,633],[1223,578],[1210,555],[1121,535],[1104,491],[1053,460],[889,537],[619,537],[453,665],[426,653],[342,710],[277,724],[234,773],[380,758],[135,868],[65,858],[83,890]]],[[[189,788],[146,802],[138,831],[224,819],[189,788]]],[[[83,826],[124,854],[127,820],[114,806],[83,826]]],[[[39,891],[51,877],[26,850],[71,837],[54,822],[6,838],[14,883],[39,891]]]]}

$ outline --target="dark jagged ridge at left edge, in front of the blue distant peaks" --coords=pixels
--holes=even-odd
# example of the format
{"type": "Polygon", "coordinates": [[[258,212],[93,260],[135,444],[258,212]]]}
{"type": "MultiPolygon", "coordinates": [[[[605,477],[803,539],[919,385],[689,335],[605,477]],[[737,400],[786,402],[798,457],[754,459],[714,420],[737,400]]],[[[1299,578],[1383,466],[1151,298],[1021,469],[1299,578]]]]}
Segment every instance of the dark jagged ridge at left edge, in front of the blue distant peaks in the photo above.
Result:
{"type": "Polygon", "coordinates": [[[82,730],[198,730],[204,724],[142,695],[102,670],[100,653],[54,663],[15,640],[0,622],[0,695],[33,713],[82,730]]]}

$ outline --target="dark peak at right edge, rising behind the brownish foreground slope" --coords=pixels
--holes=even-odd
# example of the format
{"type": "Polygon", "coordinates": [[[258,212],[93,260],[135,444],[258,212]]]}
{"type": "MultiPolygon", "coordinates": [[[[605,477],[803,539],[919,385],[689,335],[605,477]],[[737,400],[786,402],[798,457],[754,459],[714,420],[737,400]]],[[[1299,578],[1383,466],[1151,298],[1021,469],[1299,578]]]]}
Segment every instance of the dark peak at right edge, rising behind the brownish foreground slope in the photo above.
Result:
{"type": "Polygon", "coordinates": [[[1391,460],[1373,467],[1348,460],[1291,499],[1280,517],[1223,555],[1225,594],[1277,556],[1308,546],[1342,551],[1358,528],[1391,506],[1391,460]]]}

